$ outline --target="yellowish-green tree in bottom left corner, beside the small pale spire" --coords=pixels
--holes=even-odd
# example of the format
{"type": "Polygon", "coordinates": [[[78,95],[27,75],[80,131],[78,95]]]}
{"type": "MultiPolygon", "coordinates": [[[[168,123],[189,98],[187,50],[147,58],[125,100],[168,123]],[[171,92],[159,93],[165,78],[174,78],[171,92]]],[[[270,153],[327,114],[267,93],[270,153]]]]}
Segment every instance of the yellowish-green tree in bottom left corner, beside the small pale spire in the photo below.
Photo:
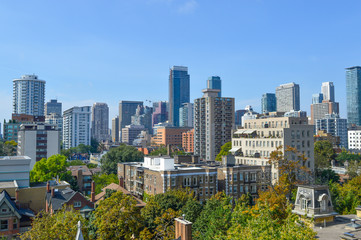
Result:
{"type": "Polygon", "coordinates": [[[55,214],[40,212],[32,221],[31,229],[20,238],[37,240],[75,239],[78,221],[83,225],[84,239],[88,238],[87,221],[73,208],[65,206],[55,214]]]}

